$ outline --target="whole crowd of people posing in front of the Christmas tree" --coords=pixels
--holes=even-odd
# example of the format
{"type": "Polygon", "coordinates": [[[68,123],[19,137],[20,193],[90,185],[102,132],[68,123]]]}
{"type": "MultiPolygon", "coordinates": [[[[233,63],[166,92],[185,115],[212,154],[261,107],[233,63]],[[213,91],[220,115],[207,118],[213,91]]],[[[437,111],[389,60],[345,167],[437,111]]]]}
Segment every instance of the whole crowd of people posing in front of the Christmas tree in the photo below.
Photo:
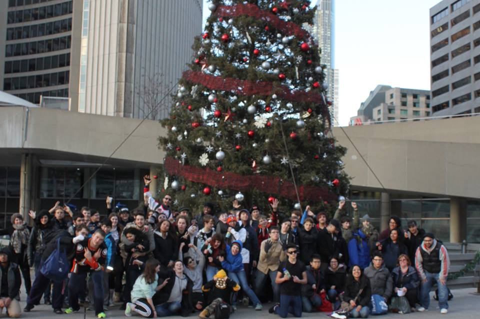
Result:
{"type": "Polygon", "coordinates": [[[273,302],[269,312],[282,318],[314,311],[367,318],[375,301],[393,305],[402,297],[408,312],[425,311],[436,283],[440,312],[447,313],[448,253],[413,220],[404,231],[391,217],[379,233],[368,215],[359,218],[355,203],[350,219],[344,200],[329,222],[326,212],[309,206],[279,213],[277,199],[268,212],[236,200],[228,212],[215,213],[211,203],[196,215],[186,207],[173,212],[172,197],[156,201],[149,176],[143,181],[144,207],[112,208],[107,198],[101,221],[97,210],[58,202],[49,211],[30,211],[32,228],[13,214],[11,227],[0,230],[10,236],[9,247],[0,250],[0,312],[20,316],[21,273],[24,312],[43,296],[55,314],[90,305],[97,318],[115,305],[128,317],[196,312],[227,318],[239,304],[261,311],[262,302],[273,302]],[[60,280],[43,267],[55,250],[71,263],[60,280]]]}

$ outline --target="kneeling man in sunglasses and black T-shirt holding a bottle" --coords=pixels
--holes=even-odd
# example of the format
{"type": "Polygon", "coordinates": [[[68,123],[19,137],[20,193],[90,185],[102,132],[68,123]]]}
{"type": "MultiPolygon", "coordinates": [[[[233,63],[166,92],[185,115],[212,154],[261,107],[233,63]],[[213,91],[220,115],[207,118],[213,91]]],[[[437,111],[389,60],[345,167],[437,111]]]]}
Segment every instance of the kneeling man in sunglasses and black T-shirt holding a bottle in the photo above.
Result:
{"type": "Polygon", "coordinates": [[[307,283],[306,267],[297,260],[298,248],[295,244],[286,246],[287,260],[280,263],[275,283],[280,286],[280,304],[271,307],[268,312],[286,318],[288,313],[301,317],[301,286],[307,283]]]}

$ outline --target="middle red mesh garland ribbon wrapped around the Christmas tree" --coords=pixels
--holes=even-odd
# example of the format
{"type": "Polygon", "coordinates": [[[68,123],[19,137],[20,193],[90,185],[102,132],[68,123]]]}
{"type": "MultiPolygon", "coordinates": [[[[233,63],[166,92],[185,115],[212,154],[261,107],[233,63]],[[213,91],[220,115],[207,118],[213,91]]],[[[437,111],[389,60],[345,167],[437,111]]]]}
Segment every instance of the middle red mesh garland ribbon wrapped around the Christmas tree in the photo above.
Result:
{"type": "Polygon", "coordinates": [[[230,91],[239,95],[271,95],[277,94],[279,97],[291,102],[307,102],[321,105],[322,116],[330,124],[330,112],[325,104],[324,97],[316,92],[294,91],[288,87],[280,85],[273,88],[273,82],[248,81],[235,78],[222,78],[219,76],[205,74],[200,71],[185,71],[183,78],[195,84],[201,84],[210,90],[230,91]]]}

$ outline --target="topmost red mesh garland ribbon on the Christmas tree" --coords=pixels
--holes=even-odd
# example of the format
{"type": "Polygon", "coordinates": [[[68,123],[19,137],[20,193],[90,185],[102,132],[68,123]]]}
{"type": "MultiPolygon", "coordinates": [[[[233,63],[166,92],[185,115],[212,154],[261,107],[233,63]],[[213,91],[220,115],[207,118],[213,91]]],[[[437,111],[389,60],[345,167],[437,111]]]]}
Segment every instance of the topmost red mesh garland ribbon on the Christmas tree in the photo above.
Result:
{"type": "Polygon", "coordinates": [[[255,4],[220,5],[213,13],[221,17],[248,15],[270,24],[283,34],[294,35],[300,39],[304,38],[309,44],[313,42],[310,34],[299,25],[293,22],[285,22],[275,14],[264,11],[255,4]]]}

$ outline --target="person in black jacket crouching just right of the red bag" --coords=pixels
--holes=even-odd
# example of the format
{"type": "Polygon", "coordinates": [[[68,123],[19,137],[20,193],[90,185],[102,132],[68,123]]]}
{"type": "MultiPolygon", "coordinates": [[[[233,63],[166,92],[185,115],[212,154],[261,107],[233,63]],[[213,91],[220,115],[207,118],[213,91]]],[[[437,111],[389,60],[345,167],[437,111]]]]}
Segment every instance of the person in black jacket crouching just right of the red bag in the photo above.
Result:
{"type": "Polygon", "coordinates": [[[336,310],[340,306],[338,297],[345,290],[346,280],[346,267],[343,264],[339,264],[337,256],[330,258],[330,266],[325,270],[324,277],[324,286],[325,290],[327,290],[326,296],[332,303],[333,310],[336,310]]]}

